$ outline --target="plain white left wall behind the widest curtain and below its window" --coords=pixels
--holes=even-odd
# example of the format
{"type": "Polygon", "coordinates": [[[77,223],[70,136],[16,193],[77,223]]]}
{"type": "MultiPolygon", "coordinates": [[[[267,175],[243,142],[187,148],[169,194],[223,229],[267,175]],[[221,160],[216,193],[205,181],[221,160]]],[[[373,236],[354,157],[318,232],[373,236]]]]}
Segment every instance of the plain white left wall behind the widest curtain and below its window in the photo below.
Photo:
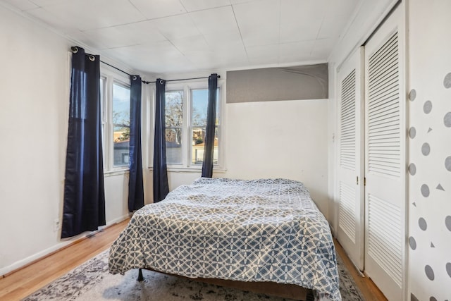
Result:
{"type": "MultiPolygon", "coordinates": [[[[3,6],[0,41],[2,275],[67,243],[54,220],[63,206],[72,45],[3,6]]],[[[105,179],[107,223],[127,215],[124,177],[105,179]]]]}

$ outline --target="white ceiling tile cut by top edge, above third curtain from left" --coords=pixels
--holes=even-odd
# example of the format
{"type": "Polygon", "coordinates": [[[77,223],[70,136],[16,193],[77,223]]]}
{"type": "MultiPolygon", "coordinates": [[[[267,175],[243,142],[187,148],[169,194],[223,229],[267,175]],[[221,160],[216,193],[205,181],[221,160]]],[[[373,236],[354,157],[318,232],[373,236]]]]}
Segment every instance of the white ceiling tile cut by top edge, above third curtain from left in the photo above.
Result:
{"type": "Polygon", "coordinates": [[[130,0],[130,2],[149,20],[186,13],[179,0],[130,0]]]}

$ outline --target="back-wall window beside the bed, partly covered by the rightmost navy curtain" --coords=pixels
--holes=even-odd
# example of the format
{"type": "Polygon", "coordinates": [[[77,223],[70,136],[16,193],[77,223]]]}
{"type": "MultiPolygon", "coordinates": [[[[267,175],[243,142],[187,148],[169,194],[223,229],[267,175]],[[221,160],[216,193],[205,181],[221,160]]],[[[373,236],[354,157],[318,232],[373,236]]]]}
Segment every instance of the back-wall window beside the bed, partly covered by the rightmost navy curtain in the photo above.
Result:
{"type": "MultiPolygon", "coordinates": [[[[169,168],[200,168],[204,159],[208,84],[166,85],[166,161],[169,168]]],[[[216,94],[214,164],[221,164],[221,87],[216,94]]]]}

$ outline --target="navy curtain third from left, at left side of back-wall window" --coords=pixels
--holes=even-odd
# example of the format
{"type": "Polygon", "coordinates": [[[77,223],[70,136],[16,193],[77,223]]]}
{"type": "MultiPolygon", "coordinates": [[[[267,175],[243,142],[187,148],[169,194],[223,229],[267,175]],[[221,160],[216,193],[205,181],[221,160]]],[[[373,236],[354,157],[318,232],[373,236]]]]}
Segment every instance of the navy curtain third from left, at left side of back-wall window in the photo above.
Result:
{"type": "Polygon", "coordinates": [[[154,203],[169,193],[166,166],[166,81],[156,80],[155,137],[154,137],[154,203]]]}

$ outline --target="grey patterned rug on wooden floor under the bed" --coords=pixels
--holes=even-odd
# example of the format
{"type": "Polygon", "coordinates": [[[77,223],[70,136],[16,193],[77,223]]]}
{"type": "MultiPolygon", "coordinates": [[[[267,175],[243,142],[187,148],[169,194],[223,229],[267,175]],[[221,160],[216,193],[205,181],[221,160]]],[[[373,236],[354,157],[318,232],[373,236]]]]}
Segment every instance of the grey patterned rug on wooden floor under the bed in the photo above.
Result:
{"type": "MultiPolygon", "coordinates": [[[[364,300],[340,257],[338,257],[338,269],[342,300],[364,300]]],[[[109,274],[108,250],[106,250],[23,300],[289,301],[280,297],[223,288],[153,271],[143,270],[143,275],[144,281],[138,282],[136,281],[137,270],[128,271],[125,275],[109,274]]]]}

